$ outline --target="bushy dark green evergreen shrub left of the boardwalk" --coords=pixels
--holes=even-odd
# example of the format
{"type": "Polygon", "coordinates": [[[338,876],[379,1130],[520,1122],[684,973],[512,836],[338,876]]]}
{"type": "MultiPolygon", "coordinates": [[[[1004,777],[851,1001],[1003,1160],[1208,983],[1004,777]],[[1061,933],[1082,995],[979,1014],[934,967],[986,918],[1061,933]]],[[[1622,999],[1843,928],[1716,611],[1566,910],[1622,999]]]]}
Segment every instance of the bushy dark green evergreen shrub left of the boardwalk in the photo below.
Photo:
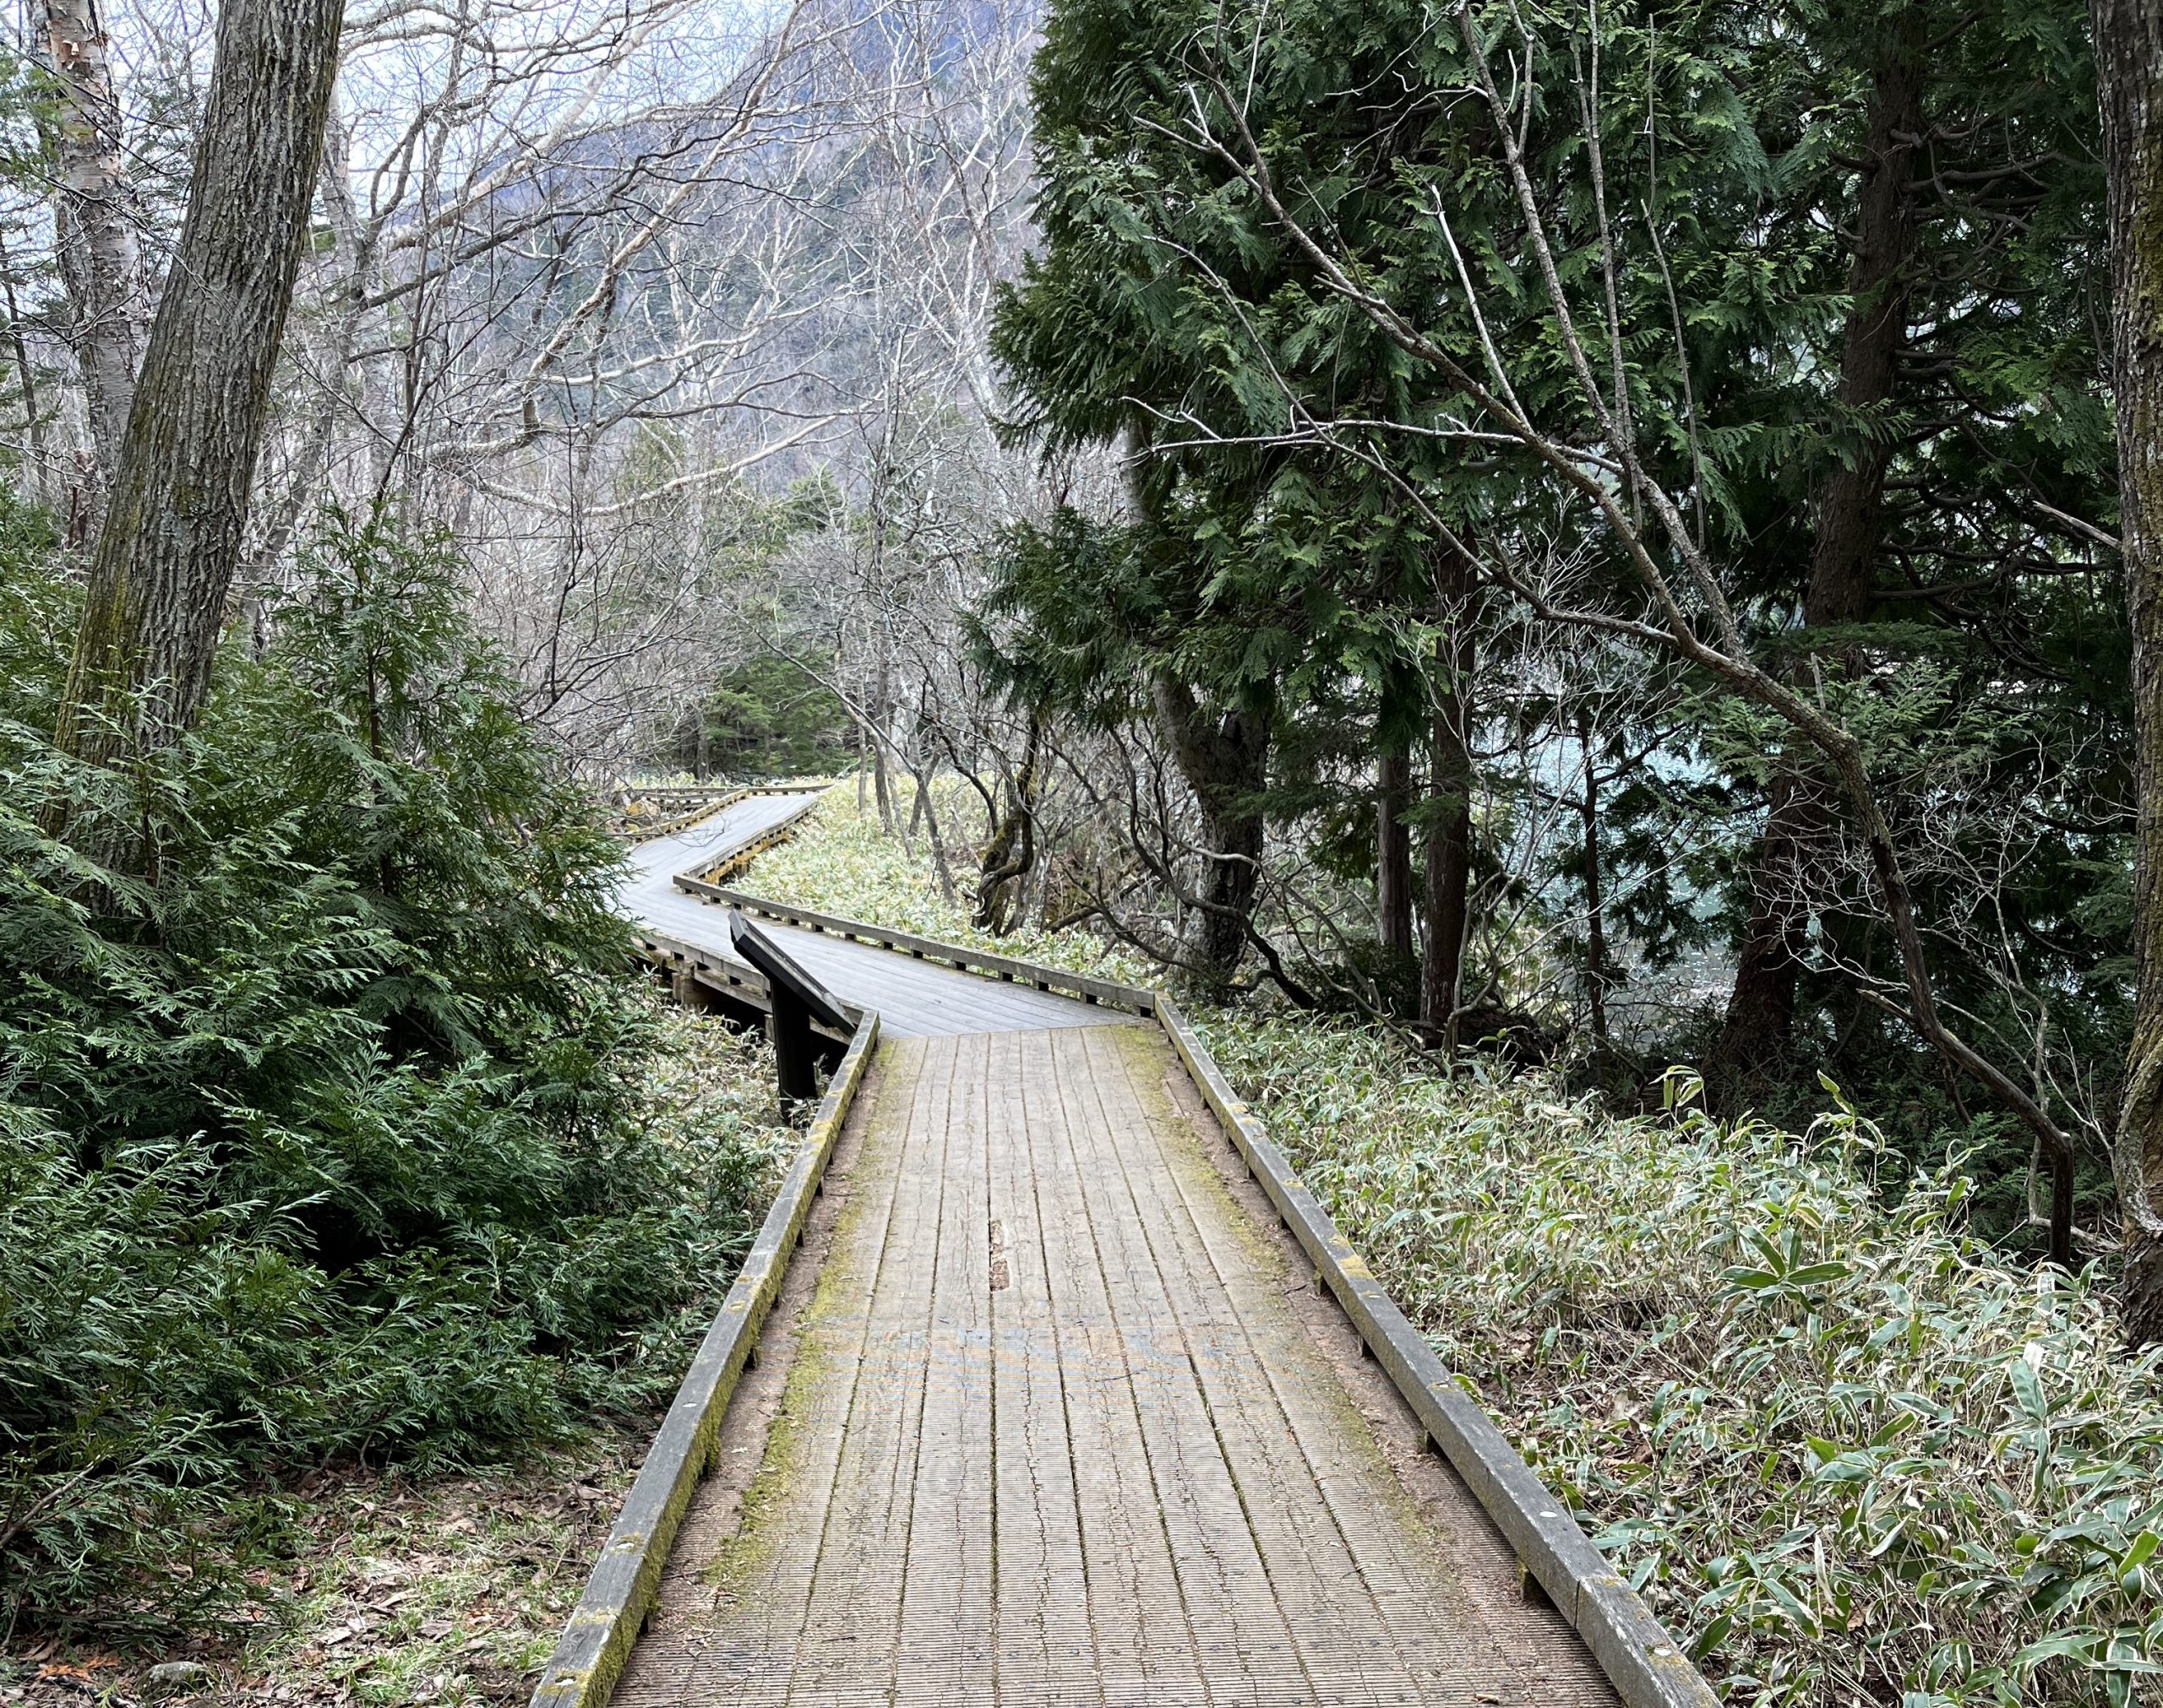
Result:
{"type": "Polygon", "coordinates": [[[658,1395],[761,1161],[647,1133],[616,850],[439,547],[333,523],[108,772],[48,739],[69,595],[6,523],[0,1622],[154,1624],[244,1591],[281,1477],[658,1395]]]}

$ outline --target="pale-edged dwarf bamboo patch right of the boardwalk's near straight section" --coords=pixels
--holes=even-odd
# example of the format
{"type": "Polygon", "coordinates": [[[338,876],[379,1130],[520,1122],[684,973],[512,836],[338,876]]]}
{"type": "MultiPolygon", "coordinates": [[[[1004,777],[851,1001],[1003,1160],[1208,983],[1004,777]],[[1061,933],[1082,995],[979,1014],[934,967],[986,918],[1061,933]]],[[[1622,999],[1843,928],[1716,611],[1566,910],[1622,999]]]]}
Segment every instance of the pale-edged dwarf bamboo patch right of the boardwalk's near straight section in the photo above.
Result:
{"type": "Polygon", "coordinates": [[[2148,1699],[2163,1353],[1968,1237],[1958,1174],[1854,1113],[1618,1118],[1365,1027],[1200,1025],[1728,1702],[2148,1699]]]}

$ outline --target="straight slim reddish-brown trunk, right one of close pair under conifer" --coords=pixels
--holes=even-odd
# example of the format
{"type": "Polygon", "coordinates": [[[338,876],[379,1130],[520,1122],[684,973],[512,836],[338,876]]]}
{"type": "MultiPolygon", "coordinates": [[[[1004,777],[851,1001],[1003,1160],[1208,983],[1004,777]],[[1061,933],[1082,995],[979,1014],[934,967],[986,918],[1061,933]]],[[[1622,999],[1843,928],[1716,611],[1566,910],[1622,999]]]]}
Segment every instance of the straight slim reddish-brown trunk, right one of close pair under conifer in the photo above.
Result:
{"type": "Polygon", "coordinates": [[[1434,770],[1428,783],[1428,953],[1419,964],[1419,1029],[1441,1049],[1458,1042],[1458,986],[1473,876],[1473,573],[1451,553],[1434,577],[1436,646],[1434,770]]]}

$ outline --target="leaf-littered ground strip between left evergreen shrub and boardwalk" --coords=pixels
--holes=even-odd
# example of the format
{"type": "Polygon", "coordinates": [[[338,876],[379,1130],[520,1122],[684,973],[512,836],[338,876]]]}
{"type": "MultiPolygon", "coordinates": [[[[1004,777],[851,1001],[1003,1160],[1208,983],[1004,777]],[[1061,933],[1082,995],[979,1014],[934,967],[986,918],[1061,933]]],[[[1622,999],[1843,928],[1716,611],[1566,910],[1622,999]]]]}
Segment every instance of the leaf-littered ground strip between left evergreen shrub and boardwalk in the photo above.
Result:
{"type": "MultiPolygon", "coordinates": [[[[772,1163],[792,1142],[770,1046],[718,1020],[666,1014],[638,1120],[662,1144],[699,1144],[716,1124],[729,1133],[740,1161],[725,1159],[720,1172],[731,1163],[751,1172],[731,1183],[712,1232],[748,1243],[766,1213],[772,1163]]],[[[705,1161],[686,1198],[701,1217],[716,1209],[709,1170],[705,1161]]],[[[255,1546],[229,1537],[236,1557],[210,1563],[225,1578],[214,1587],[214,1611],[173,1622],[147,1602],[99,1609],[102,1628],[93,1630],[9,1630],[0,1639],[0,1702],[523,1704],[729,1278],[722,1263],[692,1295],[642,1401],[597,1420],[478,1442],[463,1455],[478,1462],[472,1468],[363,1451],[268,1485],[229,1485],[234,1500],[273,1494],[277,1513],[255,1546]],[[231,1580],[234,1567],[244,1580],[231,1580]]]]}

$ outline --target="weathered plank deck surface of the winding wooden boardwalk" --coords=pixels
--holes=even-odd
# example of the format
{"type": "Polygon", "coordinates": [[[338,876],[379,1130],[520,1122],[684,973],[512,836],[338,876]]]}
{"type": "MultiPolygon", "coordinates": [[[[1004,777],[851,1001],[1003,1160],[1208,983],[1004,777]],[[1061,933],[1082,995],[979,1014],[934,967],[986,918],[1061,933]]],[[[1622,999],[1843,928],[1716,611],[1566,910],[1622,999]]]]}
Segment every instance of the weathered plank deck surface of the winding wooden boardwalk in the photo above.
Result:
{"type": "Polygon", "coordinates": [[[1159,1029],[774,936],[883,1033],[616,1704],[1618,1699],[1159,1029]]]}

